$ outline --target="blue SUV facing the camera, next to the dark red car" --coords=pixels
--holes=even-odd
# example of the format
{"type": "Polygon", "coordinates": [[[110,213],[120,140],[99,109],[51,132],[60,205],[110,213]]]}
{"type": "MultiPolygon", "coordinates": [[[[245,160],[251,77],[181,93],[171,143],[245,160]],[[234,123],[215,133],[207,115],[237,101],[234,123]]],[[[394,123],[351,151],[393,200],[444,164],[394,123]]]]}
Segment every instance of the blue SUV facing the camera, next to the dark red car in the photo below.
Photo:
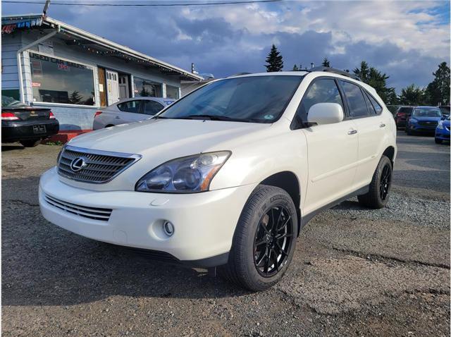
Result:
{"type": "Polygon", "coordinates": [[[407,135],[420,132],[434,133],[442,116],[442,112],[437,106],[415,106],[412,115],[407,120],[407,135]]]}

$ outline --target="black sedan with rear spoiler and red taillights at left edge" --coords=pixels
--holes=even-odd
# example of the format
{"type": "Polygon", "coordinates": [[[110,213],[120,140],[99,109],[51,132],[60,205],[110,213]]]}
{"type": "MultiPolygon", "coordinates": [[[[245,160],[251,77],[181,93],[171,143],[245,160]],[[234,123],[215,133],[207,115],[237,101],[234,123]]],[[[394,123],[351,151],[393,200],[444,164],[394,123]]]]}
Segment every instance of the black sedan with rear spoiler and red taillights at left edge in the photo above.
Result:
{"type": "Polygon", "coordinates": [[[25,147],[34,147],[58,130],[59,123],[50,109],[1,97],[1,142],[20,142],[25,147]]]}

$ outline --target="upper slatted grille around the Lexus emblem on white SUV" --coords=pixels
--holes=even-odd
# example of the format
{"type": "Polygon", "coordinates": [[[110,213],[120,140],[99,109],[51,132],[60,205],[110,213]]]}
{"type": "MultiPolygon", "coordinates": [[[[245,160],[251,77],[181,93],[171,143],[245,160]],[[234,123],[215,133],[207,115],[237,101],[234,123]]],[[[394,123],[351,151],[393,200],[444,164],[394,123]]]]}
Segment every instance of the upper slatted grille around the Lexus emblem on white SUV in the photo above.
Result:
{"type": "Polygon", "coordinates": [[[84,183],[106,183],[140,158],[138,154],[106,152],[68,145],[61,152],[58,174],[84,183]],[[73,169],[75,159],[78,164],[82,163],[82,168],[78,171],[73,169]]]}

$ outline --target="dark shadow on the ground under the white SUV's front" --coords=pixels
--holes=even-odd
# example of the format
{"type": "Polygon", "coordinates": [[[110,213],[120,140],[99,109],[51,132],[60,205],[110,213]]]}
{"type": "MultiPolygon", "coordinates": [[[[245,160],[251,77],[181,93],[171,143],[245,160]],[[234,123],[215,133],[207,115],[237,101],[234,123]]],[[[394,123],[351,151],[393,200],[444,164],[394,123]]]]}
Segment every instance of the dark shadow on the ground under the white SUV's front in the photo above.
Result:
{"type": "Polygon", "coordinates": [[[221,278],[154,262],[47,222],[39,207],[4,201],[2,304],[77,305],[111,296],[221,298],[248,294],[221,278]]]}

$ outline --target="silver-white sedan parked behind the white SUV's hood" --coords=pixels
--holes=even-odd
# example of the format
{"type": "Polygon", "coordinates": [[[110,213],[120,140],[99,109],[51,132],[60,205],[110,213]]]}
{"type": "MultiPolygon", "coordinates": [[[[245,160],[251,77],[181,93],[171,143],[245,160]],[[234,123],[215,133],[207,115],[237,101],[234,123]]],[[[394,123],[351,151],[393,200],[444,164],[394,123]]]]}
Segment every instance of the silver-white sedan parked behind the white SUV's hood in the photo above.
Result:
{"type": "Polygon", "coordinates": [[[94,130],[109,128],[110,126],[144,121],[152,118],[166,106],[173,104],[174,99],[161,97],[134,97],[123,99],[106,106],[94,114],[94,130]]]}

